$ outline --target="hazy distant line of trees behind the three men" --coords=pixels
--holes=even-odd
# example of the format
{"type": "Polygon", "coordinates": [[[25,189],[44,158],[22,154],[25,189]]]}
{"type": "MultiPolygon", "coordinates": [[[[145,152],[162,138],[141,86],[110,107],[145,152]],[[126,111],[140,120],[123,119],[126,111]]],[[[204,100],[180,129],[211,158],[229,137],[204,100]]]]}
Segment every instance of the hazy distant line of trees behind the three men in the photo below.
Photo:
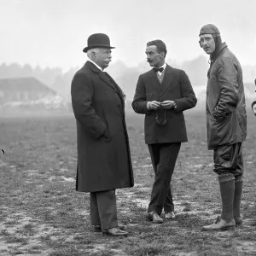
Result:
{"type": "MultiPolygon", "coordinates": [[[[172,67],[183,69],[188,75],[193,86],[207,84],[207,57],[200,55],[194,60],[177,61],[167,60],[172,67]]],[[[70,102],[70,84],[74,73],[79,67],[73,67],[67,72],[63,72],[61,67],[31,67],[29,64],[20,65],[18,63],[11,63],[9,65],[3,63],[0,65],[0,78],[6,77],[34,77],[49,88],[55,90],[63,97],[65,102],[70,102]]],[[[150,69],[148,62],[143,61],[138,63],[137,67],[127,67],[122,61],[115,61],[110,64],[106,70],[113,76],[113,79],[125,90],[128,98],[132,98],[137,84],[138,76],[150,69]]],[[[252,82],[256,76],[255,66],[243,66],[244,81],[252,82]]]]}

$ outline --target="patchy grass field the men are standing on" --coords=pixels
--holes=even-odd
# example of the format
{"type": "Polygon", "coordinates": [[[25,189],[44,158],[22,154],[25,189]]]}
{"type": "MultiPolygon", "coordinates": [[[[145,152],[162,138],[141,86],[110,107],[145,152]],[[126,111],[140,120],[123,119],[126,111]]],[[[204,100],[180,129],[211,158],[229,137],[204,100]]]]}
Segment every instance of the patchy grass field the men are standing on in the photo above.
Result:
{"type": "Polygon", "coordinates": [[[75,191],[76,127],[73,116],[0,119],[0,255],[256,255],[256,118],[248,112],[244,143],[244,224],[203,232],[220,213],[217,175],[207,150],[204,113],[187,113],[172,179],[177,219],[146,219],[154,180],[140,116],[127,116],[136,185],[117,190],[119,221],[129,236],[94,233],[89,195],[75,191]],[[3,149],[3,150],[1,150],[3,149]]]}

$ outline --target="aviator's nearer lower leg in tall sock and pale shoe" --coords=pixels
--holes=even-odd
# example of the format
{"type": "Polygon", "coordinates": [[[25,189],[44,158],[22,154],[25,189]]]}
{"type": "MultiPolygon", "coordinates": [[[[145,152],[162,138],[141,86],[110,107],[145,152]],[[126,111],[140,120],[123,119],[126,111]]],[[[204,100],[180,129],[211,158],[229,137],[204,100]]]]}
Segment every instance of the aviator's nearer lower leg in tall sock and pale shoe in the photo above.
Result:
{"type": "Polygon", "coordinates": [[[220,174],[218,182],[222,201],[222,214],[213,224],[204,226],[202,230],[232,230],[236,226],[233,217],[235,177],[232,173],[220,174]]]}

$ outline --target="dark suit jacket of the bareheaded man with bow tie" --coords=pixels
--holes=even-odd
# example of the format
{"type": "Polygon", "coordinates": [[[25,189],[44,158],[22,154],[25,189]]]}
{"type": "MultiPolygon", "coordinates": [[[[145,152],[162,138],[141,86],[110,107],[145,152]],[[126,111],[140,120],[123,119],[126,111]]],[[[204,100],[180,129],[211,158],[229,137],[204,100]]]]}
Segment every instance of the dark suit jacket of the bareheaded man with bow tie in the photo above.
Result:
{"type": "Polygon", "coordinates": [[[184,143],[188,141],[183,111],[194,108],[197,100],[189,78],[183,70],[166,65],[162,84],[154,69],[139,76],[132,108],[136,113],[145,114],[145,142],[184,143]],[[148,110],[147,102],[175,101],[176,109],[166,110],[166,125],[158,125],[155,110],[148,110]]]}

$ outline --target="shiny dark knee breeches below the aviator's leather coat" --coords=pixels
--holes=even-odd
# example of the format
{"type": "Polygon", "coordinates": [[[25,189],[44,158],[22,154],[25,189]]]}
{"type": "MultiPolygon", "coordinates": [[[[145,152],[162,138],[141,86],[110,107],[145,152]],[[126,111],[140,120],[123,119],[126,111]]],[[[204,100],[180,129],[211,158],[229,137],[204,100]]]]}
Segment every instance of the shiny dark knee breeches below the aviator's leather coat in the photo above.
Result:
{"type": "Polygon", "coordinates": [[[242,143],[224,145],[213,152],[214,172],[218,175],[231,173],[235,177],[243,174],[242,143]]]}

